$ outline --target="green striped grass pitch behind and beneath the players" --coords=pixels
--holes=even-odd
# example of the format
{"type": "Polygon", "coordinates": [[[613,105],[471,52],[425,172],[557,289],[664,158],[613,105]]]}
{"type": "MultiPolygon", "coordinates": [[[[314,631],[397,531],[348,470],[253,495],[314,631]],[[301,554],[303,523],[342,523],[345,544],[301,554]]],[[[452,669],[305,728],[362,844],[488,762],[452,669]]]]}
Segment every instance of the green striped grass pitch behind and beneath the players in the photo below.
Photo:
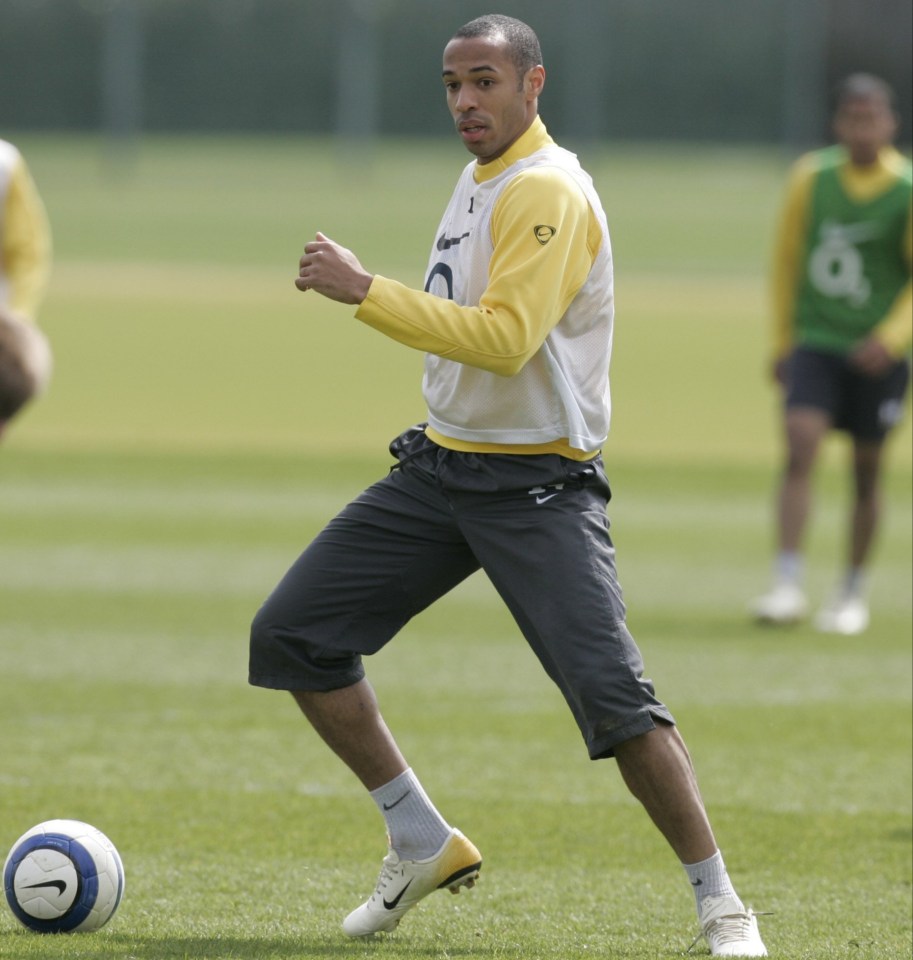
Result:
{"type": "MultiPolygon", "coordinates": [[[[290,698],[246,684],[247,628],[300,548],[422,415],[420,358],[297,293],[321,229],[419,283],[456,143],[19,141],[51,213],[50,393],[0,447],[0,855],[88,820],[127,872],[96,934],[0,905],[2,960],[657,960],[694,934],[683,873],[483,578],[369,664],[482,880],[348,941],[384,853],[370,799],[290,698]],[[412,161],[412,162],[410,162],[412,161]]],[[[764,274],[784,160],[581,148],[613,230],[606,461],[630,625],[692,750],[772,957],[911,951],[911,431],[890,451],[861,639],[746,620],[766,584],[776,402],[764,274]]],[[[843,548],[846,449],[818,478],[810,590],[843,548]]],[[[692,955],[706,955],[699,944],[692,955]]]]}

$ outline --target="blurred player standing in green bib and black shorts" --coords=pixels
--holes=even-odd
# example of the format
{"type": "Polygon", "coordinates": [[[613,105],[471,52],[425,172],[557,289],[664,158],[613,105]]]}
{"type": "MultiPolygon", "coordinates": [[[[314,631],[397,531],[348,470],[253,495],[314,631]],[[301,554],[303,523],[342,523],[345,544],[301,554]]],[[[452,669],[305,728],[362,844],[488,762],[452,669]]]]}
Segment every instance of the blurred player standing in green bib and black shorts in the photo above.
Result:
{"type": "Polygon", "coordinates": [[[754,615],[804,618],[802,537],[821,441],[852,438],[854,499],[842,582],[818,629],[861,633],[869,623],[866,564],[880,512],[885,439],[903,411],[913,340],[911,166],[892,146],[893,94],[854,74],[840,86],[837,144],[802,157],[789,181],[774,258],[774,377],[783,388],[786,462],[778,553],[754,615]]]}

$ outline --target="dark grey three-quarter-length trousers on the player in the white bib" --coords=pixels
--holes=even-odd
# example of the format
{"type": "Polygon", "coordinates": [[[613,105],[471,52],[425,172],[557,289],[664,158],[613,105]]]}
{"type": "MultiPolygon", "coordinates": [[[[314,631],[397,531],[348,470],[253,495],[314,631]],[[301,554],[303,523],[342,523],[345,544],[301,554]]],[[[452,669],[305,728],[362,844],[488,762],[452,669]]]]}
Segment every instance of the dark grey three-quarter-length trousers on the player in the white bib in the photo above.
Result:
{"type": "Polygon", "coordinates": [[[421,427],[399,464],[320,533],[258,611],[250,682],[333,690],[482,568],[558,685],[593,759],[674,723],[625,624],[600,459],[459,453],[421,427]]]}

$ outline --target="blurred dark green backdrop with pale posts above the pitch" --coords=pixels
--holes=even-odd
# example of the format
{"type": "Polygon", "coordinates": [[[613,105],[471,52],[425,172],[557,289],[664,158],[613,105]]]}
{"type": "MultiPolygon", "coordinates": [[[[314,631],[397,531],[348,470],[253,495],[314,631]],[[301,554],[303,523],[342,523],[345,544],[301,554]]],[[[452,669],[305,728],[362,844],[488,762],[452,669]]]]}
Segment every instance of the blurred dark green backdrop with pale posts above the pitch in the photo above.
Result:
{"type": "Polygon", "coordinates": [[[564,138],[802,147],[870,70],[910,139],[909,0],[0,0],[0,128],[446,133],[427,78],[492,9],[536,27],[564,138]]]}

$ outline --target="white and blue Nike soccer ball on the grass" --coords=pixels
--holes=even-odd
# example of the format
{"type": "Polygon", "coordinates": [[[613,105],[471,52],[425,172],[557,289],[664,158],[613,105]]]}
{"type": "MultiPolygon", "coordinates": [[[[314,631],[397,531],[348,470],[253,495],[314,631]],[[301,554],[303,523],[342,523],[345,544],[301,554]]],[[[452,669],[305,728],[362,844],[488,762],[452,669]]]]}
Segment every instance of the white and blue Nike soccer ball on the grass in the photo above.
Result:
{"type": "Polygon", "coordinates": [[[14,844],[3,865],[6,899],[38,933],[97,930],[124,893],[124,865],[111,841],[81,820],[47,820],[14,844]]]}

